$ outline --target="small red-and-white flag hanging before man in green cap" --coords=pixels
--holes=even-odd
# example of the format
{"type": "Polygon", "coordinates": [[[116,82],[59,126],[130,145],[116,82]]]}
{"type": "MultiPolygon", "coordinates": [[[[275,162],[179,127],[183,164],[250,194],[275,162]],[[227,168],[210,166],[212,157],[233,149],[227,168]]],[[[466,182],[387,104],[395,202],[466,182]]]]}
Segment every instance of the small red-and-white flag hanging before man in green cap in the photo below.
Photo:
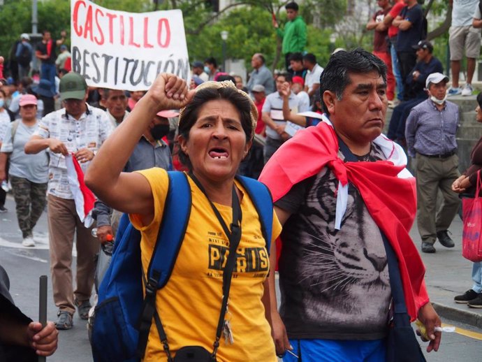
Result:
{"type": "Polygon", "coordinates": [[[86,228],[89,228],[94,222],[92,209],[94,208],[96,196],[85,186],[84,172],[73,154],[68,154],[65,157],[65,163],[67,166],[68,186],[71,188],[75,201],[75,210],[77,210],[80,221],[84,223],[86,228]]]}

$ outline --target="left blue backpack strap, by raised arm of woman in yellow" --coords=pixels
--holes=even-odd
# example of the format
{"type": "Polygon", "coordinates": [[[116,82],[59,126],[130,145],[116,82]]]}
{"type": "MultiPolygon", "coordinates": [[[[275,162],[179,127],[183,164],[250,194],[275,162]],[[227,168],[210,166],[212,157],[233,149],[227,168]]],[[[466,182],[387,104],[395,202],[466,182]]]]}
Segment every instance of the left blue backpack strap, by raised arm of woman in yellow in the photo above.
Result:
{"type": "Polygon", "coordinates": [[[168,176],[169,187],[161,226],[147,270],[147,280],[154,277],[157,289],[164,287],[169,280],[191,215],[191,188],[187,175],[169,171],[168,176]]]}

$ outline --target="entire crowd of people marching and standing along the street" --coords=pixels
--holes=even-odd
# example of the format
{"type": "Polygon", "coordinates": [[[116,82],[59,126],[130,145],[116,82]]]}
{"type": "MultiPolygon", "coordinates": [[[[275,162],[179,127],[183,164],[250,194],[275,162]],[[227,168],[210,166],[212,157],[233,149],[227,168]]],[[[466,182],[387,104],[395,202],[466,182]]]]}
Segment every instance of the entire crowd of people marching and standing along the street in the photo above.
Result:
{"type": "MultiPolygon", "coordinates": [[[[170,280],[156,292],[169,346],[152,328],[144,361],[170,361],[187,345],[211,353],[225,287],[224,266],[214,268],[212,249],[229,249],[233,242],[239,242],[237,255],[248,250],[253,265],[263,268],[234,266],[224,324],[231,343],[214,347],[211,356],[218,361],[385,361],[395,294],[402,295],[405,317],[425,325],[427,351],[437,351],[441,321],[409,231],[416,218],[421,252],[436,252],[437,240],[454,247],[448,229],[460,207],[458,194],[474,197],[481,141],[460,175],[460,115],[447,96],[473,92],[481,10],[478,0],[453,0],[449,79],[425,39],[418,2],[377,3],[380,10],[367,23],[375,32],[373,52],[339,50],[325,68],[305,51],[307,28],[298,4],[287,3],[284,27],[273,20],[286,68],[273,73],[256,52],[246,84],[207,57],[193,61],[189,84],[161,73],[145,92],[88,87],[71,71],[65,32],[52,39],[43,31],[35,50],[22,34],[14,47],[17,64],[9,64],[11,78],[3,78],[0,57],[0,212],[8,212],[11,189],[22,245],[34,247],[33,230],[47,206],[58,318],[42,329],[15,312],[22,342],[6,338],[0,326],[0,356],[11,345],[52,354],[58,338],[53,326],[73,328],[76,310],[80,319],[92,316],[94,256],[99,242],[115,240],[122,213],[141,232],[147,270],[170,187],[166,171],[173,170],[185,171],[191,213],[170,280]],[[460,87],[464,50],[467,82],[460,87]],[[38,78],[34,57],[41,62],[38,78]],[[381,132],[388,106],[393,115],[387,138],[381,132]],[[416,161],[416,178],[407,169],[409,158],[416,161]],[[69,184],[73,159],[96,196],[96,236],[78,214],[69,184]],[[270,240],[237,175],[270,190],[270,240]],[[384,184],[393,185],[390,192],[381,189],[384,184]],[[443,200],[436,208],[439,191],[443,200]],[[275,242],[278,237],[282,242],[275,242]],[[203,305],[203,313],[192,309],[191,300],[203,305]]],[[[481,122],[481,96],[477,102],[481,122]]],[[[474,287],[455,296],[457,303],[482,307],[481,270],[474,263],[474,287]]],[[[0,287],[2,280],[0,302],[13,305],[8,277],[0,287]]]]}

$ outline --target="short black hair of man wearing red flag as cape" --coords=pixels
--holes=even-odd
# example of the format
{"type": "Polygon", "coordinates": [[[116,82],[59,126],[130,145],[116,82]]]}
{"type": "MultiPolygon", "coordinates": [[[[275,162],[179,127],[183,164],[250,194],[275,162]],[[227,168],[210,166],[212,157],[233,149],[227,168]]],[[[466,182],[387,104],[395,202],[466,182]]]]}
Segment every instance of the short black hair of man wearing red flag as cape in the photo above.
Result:
{"type": "Polygon", "coordinates": [[[337,99],[341,100],[346,86],[350,84],[350,73],[363,74],[372,71],[379,73],[384,82],[386,82],[386,65],[384,61],[362,48],[349,52],[340,50],[331,55],[320,77],[320,95],[323,111],[330,115],[328,107],[323,102],[323,93],[325,91],[334,92],[337,99]]]}

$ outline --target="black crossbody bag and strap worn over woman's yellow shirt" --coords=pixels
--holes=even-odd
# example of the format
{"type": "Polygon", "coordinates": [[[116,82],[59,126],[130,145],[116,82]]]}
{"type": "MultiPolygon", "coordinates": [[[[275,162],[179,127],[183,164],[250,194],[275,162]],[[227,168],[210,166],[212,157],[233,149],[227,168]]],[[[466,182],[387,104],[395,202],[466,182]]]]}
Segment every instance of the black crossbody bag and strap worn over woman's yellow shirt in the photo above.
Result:
{"type": "Polygon", "coordinates": [[[210,201],[207,197],[205,189],[203,185],[200,184],[196,176],[193,173],[189,173],[191,179],[196,183],[198,188],[203,191],[205,194],[207,201],[209,201],[214,214],[216,215],[219,223],[221,224],[224,233],[228,236],[229,239],[229,254],[228,260],[226,261],[226,266],[224,266],[223,270],[223,300],[221,302],[221,311],[219,312],[219,319],[217,324],[216,330],[216,339],[213,343],[213,350],[212,352],[207,351],[204,347],[200,346],[186,346],[182,347],[177,350],[175,357],[170,354],[168,339],[166,336],[166,332],[161,323],[161,318],[157,312],[154,312],[154,322],[157,327],[157,331],[159,332],[159,338],[161,338],[161,342],[163,344],[164,352],[166,352],[168,356],[168,362],[216,362],[216,354],[217,349],[219,348],[219,340],[221,340],[221,333],[224,333],[224,338],[230,338],[231,336],[231,327],[229,326],[228,322],[224,320],[226,316],[226,311],[228,309],[228,298],[229,298],[229,289],[231,289],[231,276],[233,275],[233,269],[235,266],[236,261],[236,249],[238,249],[238,245],[240,244],[241,240],[241,219],[242,219],[242,212],[240,207],[240,201],[238,199],[238,194],[236,194],[235,187],[233,186],[233,222],[231,223],[231,231],[226,226],[224,219],[221,217],[221,214],[217,210],[216,206],[210,201]]]}

